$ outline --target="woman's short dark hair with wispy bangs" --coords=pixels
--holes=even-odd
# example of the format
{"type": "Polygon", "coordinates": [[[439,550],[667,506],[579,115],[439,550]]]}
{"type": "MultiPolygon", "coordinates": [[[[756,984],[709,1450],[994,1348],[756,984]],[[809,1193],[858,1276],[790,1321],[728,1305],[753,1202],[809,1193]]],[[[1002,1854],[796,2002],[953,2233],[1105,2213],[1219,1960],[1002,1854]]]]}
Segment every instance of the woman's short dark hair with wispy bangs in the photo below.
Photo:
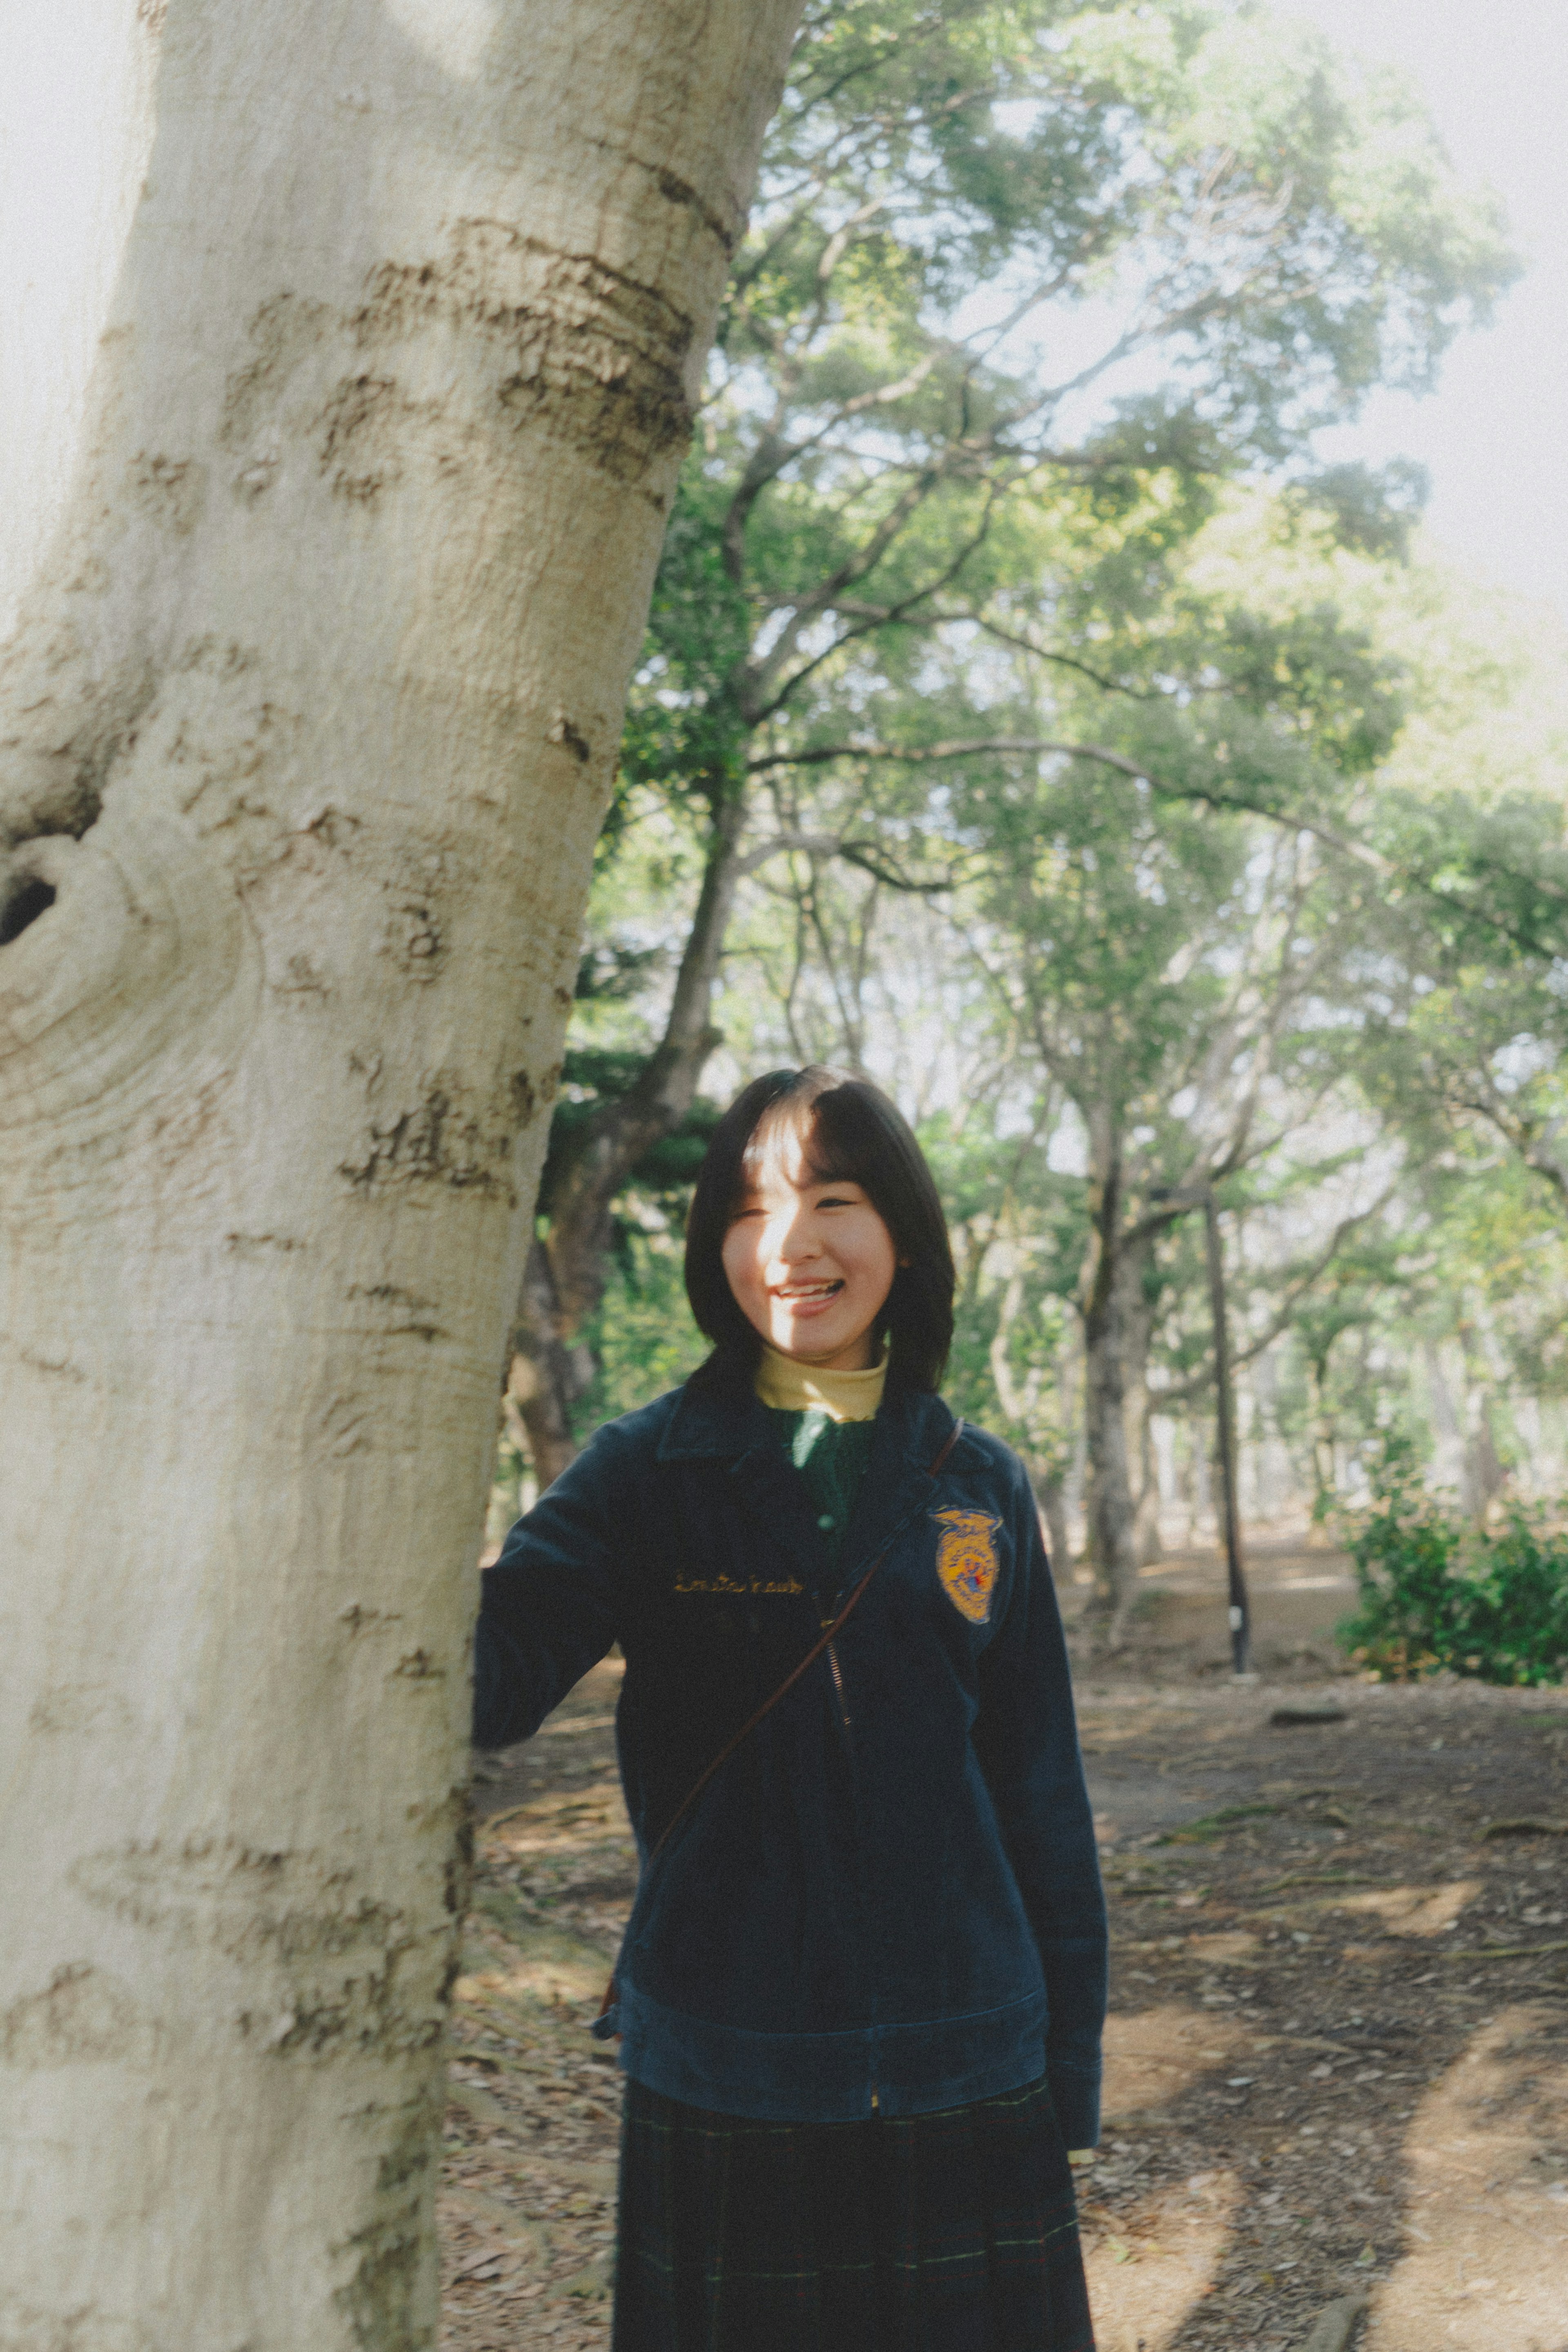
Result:
{"type": "Polygon", "coordinates": [[[952,1348],[947,1218],[910,1122],[879,1087],[813,1063],[755,1077],[712,1131],[686,1218],[686,1296],[715,1343],[710,1357],[755,1367],[762,1336],[724,1272],[724,1235],[764,1167],[799,1145],[816,1183],[858,1183],[893,1237],[898,1272],[877,1336],[889,1343],[889,1385],[938,1388],[952,1348]]]}

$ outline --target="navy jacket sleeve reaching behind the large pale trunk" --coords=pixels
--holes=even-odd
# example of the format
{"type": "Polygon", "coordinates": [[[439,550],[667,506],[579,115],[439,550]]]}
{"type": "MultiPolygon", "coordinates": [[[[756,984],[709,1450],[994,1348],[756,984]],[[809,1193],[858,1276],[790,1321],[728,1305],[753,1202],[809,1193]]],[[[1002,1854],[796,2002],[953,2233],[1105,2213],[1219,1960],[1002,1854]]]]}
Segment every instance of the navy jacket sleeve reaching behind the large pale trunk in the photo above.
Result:
{"type": "Polygon", "coordinates": [[[475,1748],[531,1738],[623,1621],[639,1524],[632,1444],[611,1423],[562,1470],[480,1581],[475,1748]]]}

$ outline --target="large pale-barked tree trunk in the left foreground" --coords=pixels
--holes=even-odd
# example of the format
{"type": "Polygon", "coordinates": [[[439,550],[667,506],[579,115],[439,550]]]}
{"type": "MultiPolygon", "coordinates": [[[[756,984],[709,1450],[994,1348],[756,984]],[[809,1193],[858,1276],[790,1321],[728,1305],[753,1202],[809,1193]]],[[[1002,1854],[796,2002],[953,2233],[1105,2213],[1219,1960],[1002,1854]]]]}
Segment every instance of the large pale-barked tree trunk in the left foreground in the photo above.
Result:
{"type": "Polygon", "coordinates": [[[0,2333],[428,2352],[505,1308],[797,0],[35,14],[0,2333]]]}

